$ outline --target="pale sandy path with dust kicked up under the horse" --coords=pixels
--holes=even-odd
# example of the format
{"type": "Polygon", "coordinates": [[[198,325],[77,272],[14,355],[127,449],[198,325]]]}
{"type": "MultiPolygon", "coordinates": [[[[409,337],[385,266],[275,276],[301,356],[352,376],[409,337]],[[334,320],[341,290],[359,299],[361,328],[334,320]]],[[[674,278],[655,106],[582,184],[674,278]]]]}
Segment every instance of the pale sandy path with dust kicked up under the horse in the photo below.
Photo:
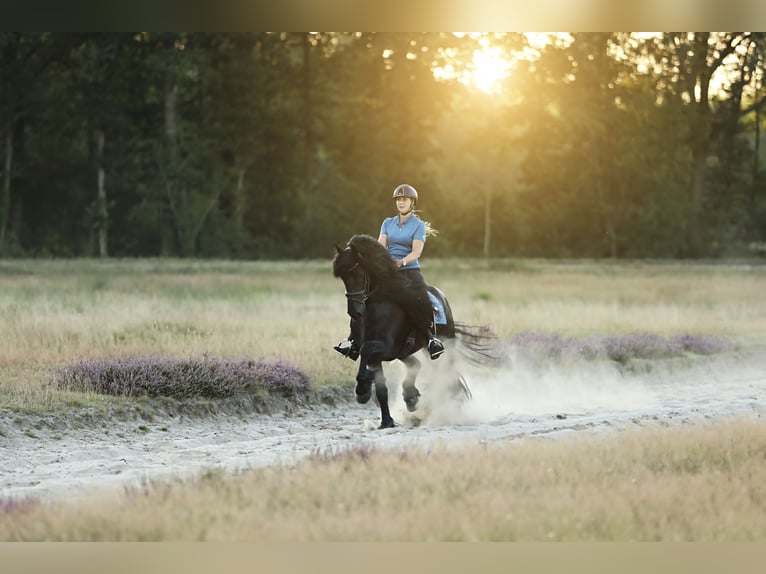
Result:
{"type": "Polygon", "coordinates": [[[29,421],[19,424],[17,417],[0,414],[0,496],[72,498],[207,468],[292,464],[314,452],[354,446],[463,446],[761,417],[766,405],[766,353],[671,361],[644,375],[622,375],[604,365],[540,369],[516,364],[502,372],[468,373],[473,399],[465,403],[439,400],[427,384],[429,374],[422,378],[420,425],[413,426],[417,421],[393,389],[390,402],[401,426],[384,431],[374,428],[379,411],[372,401],[289,416],[110,421],[85,429],[31,427],[29,421]]]}

